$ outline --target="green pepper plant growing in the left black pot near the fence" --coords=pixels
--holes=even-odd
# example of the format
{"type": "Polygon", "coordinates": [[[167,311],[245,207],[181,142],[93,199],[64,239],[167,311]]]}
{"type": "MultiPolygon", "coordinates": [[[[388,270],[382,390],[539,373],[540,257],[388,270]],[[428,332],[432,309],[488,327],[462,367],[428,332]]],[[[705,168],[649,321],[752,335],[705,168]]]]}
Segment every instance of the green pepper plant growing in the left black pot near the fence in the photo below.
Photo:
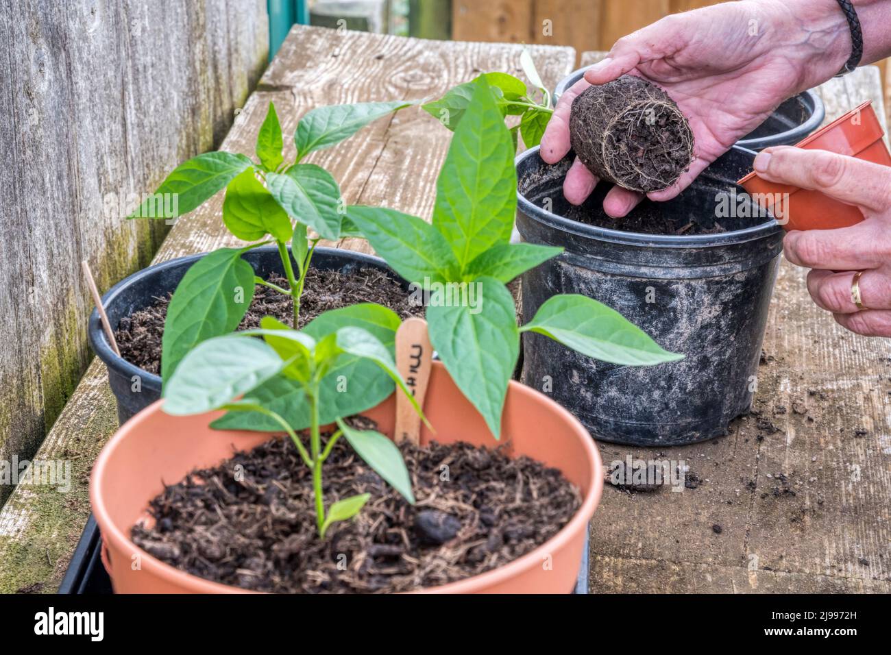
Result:
{"type": "Polygon", "coordinates": [[[270,102],[257,135],[257,162],[236,152],[200,154],[176,167],[129,216],[182,216],[225,188],[226,229],[238,239],[252,242],[243,248],[209,253],[189,268],[176,287],[161,345],[165,382],[193,346],[238,327],[250,306],[255,284],[290,296],[293,324],[298,326],[300,295],[316,244],[321,239],[361,236],[344,217],[345,204],[331,173],[303,160],[309,153],[331,147],[372,120],[408,104],[359,102],[308,111],[294,133],[296,158],[288,163],[282,153],[282,127],[270,102]],[[314,234],[309,235],[308,229],[314,234]],[[248,250],[268,243],[278,247],[288,288],[255,275],[241,258],[248,250]]]}

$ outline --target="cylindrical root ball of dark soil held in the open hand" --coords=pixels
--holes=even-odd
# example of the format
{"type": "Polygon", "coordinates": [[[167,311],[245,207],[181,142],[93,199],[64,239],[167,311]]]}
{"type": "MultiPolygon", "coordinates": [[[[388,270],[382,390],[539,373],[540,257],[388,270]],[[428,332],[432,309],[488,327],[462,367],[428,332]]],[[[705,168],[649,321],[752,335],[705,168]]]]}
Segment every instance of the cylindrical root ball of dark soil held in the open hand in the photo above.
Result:
{"type": "Polygon", "coordinates": [[[634,191],[671,186],[693,160],[693,133],[683,113],[665,91],[634,75],[579,94],[569,135],[595,176],[634,191]]]}

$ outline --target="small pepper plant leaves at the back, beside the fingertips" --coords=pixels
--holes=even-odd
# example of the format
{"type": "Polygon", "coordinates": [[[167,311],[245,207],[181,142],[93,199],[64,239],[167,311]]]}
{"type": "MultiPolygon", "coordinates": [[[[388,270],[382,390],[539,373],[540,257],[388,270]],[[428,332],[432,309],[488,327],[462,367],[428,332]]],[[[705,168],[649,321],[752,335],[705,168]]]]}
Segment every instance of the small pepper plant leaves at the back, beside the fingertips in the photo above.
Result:
{"type": "Polygon", "coordinates": [[[519,61],[526,77],[532,82],[531,89],[523,80],[507,73],[483,73],[470,82],[454,86],[439,100],[427,102],[421,107],[454,132],[464,112],[470,107],[478,79],[484,78],[492,88],[495,105],[502,116],[519,116],[519,123],[511,127],[514,148],[517,147],[518,132],[527,148],[535,147],[542,143],[544,128],[548,126],[553,113],[551,92],[545,88],[527,49],[523,49],[519,61]]]}

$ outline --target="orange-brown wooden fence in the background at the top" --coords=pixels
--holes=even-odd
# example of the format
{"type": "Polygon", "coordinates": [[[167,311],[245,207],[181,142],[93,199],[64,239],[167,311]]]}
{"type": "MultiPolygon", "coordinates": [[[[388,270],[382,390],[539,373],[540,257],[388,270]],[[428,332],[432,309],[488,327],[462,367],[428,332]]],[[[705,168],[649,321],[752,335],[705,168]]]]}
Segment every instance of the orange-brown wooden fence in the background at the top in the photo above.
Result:
{"type": "MultiPolygon", "coordinates": [[[[669,13],[721,1],[452,0],[452,36],[459,41],[571,45],[580,54],[609,50],[618,38],[669,13]]],[[[887,62],[882,61],[879,67],[885,81],[885,104],[891,108],[891,67],[887,62]]]]}

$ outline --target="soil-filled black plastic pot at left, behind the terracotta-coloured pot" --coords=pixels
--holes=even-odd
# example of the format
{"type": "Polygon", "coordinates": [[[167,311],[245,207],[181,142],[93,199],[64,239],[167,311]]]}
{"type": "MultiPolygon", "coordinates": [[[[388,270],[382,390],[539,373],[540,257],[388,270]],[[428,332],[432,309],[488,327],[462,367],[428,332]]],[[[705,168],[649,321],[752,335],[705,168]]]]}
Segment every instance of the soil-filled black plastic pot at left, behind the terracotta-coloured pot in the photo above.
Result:
{"type": "MultiPolygon", "coordinates": [[[[160,397],[161,336],[168,301],[185,272],[202,257],[203,254],[192,255],[149,266],[125,278],[102,297],[121,356],[110,347],[102,332],[98,312],[94,310],[90,316],[90,346],[108,368],[121,424],[160,397]]],[[[278,279],[283,278],[284,271],[274,246],[249,250],[243,258],[258,276],[287,286],[285,280],[278,279]]],[[[329,309],[359,302],[380,303],[402,317],[423,312],[423,307],[411,303],[408,282],[396,275],[383,259],[350,250],[316,248],[301,297],[300,323],[306,324],[329,309]]],[[[239,329],[257,327],[265,315],[290,324],[293,321],[291,299],[257,285],[239,329]]]]}

